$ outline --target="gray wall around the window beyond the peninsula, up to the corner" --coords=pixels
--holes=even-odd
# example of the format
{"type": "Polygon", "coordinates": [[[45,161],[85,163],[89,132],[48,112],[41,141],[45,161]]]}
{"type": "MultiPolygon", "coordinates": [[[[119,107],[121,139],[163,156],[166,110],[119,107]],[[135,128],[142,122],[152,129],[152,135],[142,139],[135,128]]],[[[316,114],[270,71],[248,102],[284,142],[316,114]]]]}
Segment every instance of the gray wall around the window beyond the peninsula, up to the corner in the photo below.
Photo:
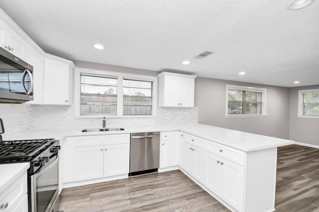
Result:
{"type": "Polygon", "coordinates": [[[221,79],[195,78],[198,123],[289,139],[289,88],[221,79]],[[267,88],[266,118],[225,118],[226,84],[267,88]]]}

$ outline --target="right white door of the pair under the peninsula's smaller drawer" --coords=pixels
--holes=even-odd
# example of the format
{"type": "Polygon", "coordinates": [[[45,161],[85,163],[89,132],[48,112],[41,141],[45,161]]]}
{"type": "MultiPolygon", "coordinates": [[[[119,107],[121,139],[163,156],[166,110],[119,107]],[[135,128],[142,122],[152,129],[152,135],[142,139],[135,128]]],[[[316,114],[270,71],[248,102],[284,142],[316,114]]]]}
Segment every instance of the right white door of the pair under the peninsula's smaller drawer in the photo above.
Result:
{"type": "Polygon", "coordinates": [[[201,183],[204,183],[205,176],[205,151],[193,146],[194,171],[193,176],[201,183]]]}

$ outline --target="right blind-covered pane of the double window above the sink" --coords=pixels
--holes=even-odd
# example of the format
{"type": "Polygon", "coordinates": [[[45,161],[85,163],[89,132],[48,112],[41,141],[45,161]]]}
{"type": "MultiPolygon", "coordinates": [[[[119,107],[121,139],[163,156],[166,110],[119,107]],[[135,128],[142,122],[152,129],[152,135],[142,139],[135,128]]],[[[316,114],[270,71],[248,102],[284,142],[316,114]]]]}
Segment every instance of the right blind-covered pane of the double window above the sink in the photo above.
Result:
{"type": "Polygon", "coordinates": [[[153,81],[123,79],[123,115],[152,114],[153,81]]]}

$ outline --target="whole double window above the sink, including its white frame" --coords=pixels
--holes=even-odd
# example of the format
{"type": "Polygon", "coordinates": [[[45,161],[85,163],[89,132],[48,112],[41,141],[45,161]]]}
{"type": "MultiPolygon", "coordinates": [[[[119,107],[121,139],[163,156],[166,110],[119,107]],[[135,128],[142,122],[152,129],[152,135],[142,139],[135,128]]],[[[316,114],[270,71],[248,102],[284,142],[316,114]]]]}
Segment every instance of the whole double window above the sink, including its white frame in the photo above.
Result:
{"type": "Polygon", "coordinates": [[[157,77],[75,68],[78,118],[154,117],[157,77]]]}

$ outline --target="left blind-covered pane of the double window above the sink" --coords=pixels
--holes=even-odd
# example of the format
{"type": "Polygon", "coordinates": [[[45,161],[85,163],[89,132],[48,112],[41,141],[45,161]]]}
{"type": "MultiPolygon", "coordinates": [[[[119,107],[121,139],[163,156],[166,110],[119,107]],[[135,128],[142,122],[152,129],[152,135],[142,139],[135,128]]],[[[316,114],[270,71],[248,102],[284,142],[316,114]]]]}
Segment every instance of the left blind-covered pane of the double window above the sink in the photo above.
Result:
{"type": "Polygon", "coordinates": [[[83,115],[116,115],[117,77],[81,74],[80,111],[83,115]]]}

